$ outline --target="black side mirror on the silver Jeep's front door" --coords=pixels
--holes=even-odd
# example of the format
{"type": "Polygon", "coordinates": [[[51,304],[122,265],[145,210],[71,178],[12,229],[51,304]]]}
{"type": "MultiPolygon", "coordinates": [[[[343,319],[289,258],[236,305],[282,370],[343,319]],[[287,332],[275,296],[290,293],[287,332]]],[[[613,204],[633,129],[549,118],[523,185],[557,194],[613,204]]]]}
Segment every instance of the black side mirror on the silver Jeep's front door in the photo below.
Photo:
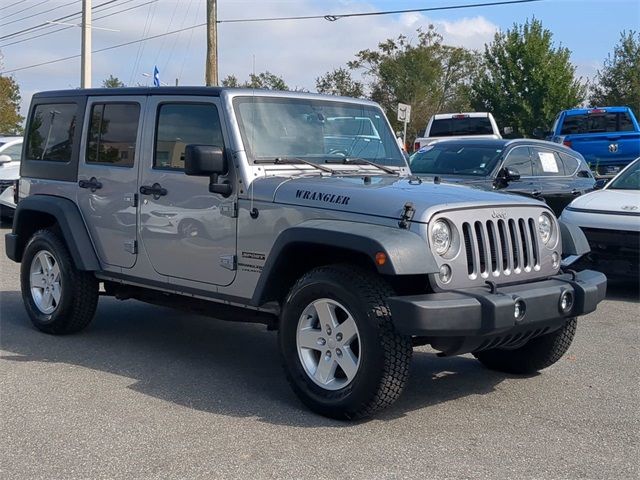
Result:
{"type": "Polygon", "coordinates": [[[218,175],[229,171],[227,158],[222,148],[213,145],[187,145],[184,150],[184,173],[186,175],[210,178],[209,191],[228,197],[232,187],[228,180],[218,183],[218,175]]]}

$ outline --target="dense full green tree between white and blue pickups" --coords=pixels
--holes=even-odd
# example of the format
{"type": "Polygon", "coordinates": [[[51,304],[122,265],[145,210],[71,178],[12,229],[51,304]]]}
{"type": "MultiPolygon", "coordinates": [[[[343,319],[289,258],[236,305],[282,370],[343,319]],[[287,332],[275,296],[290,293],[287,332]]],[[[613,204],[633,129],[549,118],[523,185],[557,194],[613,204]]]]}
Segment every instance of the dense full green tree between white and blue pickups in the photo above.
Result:
{"type": "Polygon", "coordinates": [[[554,47],[552,33],[535,18],[496,33],[471,86],[473,107],[493,113],[500,126],[519,135],[551,125],[560,110],[578,106],[586,96],[570,55],[554,47]]]}

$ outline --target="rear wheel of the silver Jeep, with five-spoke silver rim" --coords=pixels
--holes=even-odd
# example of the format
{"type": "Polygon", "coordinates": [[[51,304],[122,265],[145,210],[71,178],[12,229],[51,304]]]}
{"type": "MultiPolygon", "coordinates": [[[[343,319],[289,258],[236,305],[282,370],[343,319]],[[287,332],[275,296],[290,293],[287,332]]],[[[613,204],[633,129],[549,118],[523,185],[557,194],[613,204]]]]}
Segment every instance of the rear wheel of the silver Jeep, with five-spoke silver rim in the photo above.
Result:
{"type": "Polygon", "coordinates": [[[31,322],[46,333],[82,330],[98,304],[98,281],[77,270],[66,245],[51,230],[36,232],[20,266],[22,299],[31,322]]]}

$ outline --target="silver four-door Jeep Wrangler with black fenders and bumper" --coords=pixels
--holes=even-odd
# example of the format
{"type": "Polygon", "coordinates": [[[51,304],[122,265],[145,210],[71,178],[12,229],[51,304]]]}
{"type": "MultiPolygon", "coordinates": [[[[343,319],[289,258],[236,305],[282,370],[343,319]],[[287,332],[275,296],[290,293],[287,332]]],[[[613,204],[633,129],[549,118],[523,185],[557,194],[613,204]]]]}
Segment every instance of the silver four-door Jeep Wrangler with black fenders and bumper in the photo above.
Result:
{"type": "Polygon", "coordinates": [[[223,88],[38,93],[7,255],[40,330],[98,297],[264,322],[293,390],[334,418],[392,404],[412,347],[531,373],[606,278],[521,196],[409,175],[378,105],[223,88]]]}

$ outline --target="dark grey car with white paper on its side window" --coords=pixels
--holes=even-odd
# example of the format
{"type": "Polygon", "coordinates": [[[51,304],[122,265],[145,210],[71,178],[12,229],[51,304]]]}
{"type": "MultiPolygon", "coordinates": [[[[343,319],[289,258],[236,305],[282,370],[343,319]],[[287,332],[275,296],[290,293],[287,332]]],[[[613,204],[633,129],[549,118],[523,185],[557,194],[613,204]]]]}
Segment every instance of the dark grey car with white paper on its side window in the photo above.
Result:
{"type": "Polygon", "coordinates": [[[409,164],[418,176],[544,200],[556,215],[595,186],[582,155],[542,140],[446,140],[421,148],[409,164]]]}

